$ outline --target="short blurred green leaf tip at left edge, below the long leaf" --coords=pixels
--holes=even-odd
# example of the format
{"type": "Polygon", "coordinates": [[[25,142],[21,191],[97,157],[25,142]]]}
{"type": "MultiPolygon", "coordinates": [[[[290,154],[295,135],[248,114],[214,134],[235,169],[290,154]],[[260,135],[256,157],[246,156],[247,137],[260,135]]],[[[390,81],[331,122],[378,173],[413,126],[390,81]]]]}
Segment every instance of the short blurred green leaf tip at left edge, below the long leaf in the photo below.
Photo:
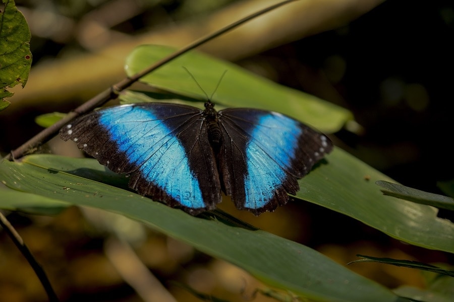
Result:
{"type": "Polygon", "coordinates": [[[61,200],[11,189],[0,189],[0,196],[2,196],[0,201],[2,209],[30,214],[55,215],[70,206],[69,203],[61,200]]]}

